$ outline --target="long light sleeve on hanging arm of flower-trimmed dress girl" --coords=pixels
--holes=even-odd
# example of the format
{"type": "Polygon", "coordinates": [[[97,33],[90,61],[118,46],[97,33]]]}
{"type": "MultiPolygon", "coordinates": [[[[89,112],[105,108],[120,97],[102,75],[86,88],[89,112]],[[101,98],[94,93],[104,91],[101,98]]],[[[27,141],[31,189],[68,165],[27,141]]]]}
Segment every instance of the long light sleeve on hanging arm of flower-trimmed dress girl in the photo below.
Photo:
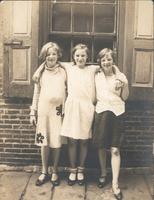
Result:
{"type": "Polygon", "coordinates": [[[32,106],[30,107],[30,115],[36,115],[36,113],[37,113],[40,90],[41,90],[40,84],[35,83],[32,106]]]}

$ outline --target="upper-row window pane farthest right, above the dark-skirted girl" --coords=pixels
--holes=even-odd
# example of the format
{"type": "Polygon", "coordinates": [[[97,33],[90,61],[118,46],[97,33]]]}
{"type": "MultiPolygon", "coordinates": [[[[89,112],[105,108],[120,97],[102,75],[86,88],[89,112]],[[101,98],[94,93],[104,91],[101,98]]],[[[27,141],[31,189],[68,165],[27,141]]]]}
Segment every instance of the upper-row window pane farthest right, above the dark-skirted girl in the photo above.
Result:
{"type": "Polygon", "coordinates": [[[113,5],[95,5],[94,31],[97,33],[114,32],[115,7],[113,5]]]}

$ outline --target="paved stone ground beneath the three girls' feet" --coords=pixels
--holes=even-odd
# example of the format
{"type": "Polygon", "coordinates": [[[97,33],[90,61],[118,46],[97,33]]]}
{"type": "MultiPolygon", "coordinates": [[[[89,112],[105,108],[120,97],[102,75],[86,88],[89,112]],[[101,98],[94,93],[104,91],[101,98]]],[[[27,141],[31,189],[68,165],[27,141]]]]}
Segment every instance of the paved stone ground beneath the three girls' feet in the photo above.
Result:
{"type": "MultiPolygon", "coordinates": [[[[111,190],[111,178],[108,184],[99,189],[96,186],[97,177],[88,174],[85,186],[68,186],[67,175],[61,173],[61,184],[52,187],[48,182],[40,187],[35,186],[38,173],[24,171],[0,172],[1,200],[114,200],[111,190]]],[[[120,187],[124,200],[152,200],[152,176],[125,172],[120,174],[120,187]]]]}

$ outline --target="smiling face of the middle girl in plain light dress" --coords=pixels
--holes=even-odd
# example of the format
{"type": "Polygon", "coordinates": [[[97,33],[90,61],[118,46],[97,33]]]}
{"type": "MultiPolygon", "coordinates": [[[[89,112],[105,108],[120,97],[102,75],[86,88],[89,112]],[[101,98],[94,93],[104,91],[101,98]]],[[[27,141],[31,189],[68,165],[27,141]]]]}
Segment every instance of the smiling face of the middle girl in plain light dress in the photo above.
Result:
{"type": "Polygon", "coordinates": [[[86,64],[88,56],[84,49],[77,49],[74,53],[73,58],[74,58],[75,64],[78,67],[83,68],[86,64]]]}

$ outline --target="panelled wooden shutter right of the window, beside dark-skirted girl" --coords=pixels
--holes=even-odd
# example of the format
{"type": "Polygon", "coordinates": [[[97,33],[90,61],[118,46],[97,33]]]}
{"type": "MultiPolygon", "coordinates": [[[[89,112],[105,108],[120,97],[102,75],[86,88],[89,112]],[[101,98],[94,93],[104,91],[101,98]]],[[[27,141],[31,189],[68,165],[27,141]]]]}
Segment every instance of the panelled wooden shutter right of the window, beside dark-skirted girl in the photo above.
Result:
{"type": "Polygon", "coordinates": [[[130,100],[154,99],[154,4],[151,0],[126,1],[124,72],[130,100]]]}

